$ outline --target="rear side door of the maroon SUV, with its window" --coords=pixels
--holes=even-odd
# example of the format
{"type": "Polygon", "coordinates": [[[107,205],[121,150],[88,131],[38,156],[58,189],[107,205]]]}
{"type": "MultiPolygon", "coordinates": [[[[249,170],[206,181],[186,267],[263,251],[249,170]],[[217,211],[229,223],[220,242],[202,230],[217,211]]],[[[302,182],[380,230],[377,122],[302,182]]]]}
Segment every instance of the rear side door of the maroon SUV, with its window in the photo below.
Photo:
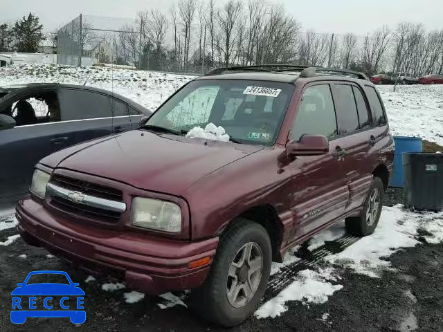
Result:
{"type": "Polygon", "coordinates": [[[343,171],[350,192],[346,211],[358,208],[372,181],[370,144],[372,127],[364,93],[357,84],[340,82],[333,84],[334,103],[338,115],[338,133],[343,137],[343,171]]]}

